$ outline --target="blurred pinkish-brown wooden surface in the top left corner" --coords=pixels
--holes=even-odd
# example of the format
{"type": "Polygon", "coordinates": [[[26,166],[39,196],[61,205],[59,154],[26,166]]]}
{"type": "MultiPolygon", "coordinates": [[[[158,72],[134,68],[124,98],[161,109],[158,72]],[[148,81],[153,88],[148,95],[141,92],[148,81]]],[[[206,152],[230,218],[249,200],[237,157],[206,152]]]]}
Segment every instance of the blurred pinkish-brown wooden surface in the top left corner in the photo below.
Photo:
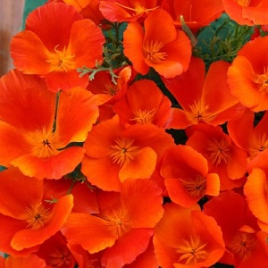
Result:
{"type": "Polygon", "coordinates": [[[25,0],[0,0],[0,76],[13,69],[9,43],[21,30],[24,3],[25,0]]]}

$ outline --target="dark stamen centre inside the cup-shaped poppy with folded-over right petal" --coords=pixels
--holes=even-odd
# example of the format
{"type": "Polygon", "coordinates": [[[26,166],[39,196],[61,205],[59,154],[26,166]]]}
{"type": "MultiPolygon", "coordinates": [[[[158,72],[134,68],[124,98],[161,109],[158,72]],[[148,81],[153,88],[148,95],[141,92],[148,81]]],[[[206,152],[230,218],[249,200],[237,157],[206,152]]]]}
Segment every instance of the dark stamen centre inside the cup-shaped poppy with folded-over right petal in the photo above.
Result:
{"type": "Polygon", "coordinates": [[[206,188],[206,179],[201,175],[197,174],[194,179],[182,180],[179,179],[182,186],[188,191],[192,197],[203,197],[206,188]]]}

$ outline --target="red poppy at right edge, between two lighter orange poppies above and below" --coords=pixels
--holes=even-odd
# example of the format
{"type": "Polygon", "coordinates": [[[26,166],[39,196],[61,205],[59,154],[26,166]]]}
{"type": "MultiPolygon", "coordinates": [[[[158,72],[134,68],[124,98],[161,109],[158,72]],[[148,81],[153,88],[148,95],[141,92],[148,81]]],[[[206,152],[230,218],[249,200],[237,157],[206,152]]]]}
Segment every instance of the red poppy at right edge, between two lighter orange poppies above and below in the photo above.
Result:
{"type": "Polygon", "coordinates": [[[227,127],[230,138],[236,145],[247,150],[248,170],[255,163],[267,159],[268,113],[264,113],[262,119],[255,125],[255,113],[246,108],[231,119],[227,127]]]}

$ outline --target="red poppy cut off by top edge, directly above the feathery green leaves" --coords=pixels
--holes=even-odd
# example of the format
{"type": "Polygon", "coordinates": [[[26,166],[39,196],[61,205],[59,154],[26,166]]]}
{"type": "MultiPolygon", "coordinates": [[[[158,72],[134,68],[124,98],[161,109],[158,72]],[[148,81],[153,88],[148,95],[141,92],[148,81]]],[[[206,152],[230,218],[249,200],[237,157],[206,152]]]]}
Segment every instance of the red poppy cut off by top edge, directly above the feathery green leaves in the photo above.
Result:
{"type": "Polygon", "coordinates": [[[167,0],[168,12],[175,25],[181,26],[180,16],[194,33],[203,26],[218,19],[223,13],[222,0],[167,0]]]}

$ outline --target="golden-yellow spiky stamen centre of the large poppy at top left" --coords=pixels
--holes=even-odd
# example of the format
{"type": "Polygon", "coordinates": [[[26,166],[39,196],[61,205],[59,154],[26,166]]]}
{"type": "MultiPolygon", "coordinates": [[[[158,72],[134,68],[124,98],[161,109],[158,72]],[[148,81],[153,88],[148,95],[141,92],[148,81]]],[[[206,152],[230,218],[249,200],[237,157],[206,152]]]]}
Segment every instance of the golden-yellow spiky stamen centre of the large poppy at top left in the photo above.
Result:
{"type": "Polygon", "coordinates": [[[46,63],[51,63],[53,71],[69,71],[75,69],[74,54],[68,54],[64,46],[63,51],[57,49],[59,45],[54,47],[54,54],[49,54],[49,59],[46,63]]]}

